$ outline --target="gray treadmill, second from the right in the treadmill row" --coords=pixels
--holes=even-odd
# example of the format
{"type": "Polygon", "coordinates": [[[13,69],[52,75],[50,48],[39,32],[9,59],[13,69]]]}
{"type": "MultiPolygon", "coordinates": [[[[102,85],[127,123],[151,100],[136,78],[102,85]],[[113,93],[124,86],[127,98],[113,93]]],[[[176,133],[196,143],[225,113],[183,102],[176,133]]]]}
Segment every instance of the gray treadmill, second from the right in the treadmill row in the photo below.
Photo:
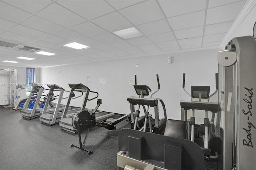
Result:
{"type": "MultiPolygon", "coordinates": [[[[47,99],[46,99],[46,104],[48,105],[48,103],[50,102],[50,99],[54,96],[54,91],[60,91],[60,94],[58,95],[59,96],[58,103],[56,104],[56,107],[55,107],[53,113],[47,112],[48,108],[44,107],[42,115],[39,117],[39,120],[42,123],[46,123],[48,125],[55,125],[55,124],[59,123],[61,116],[63,114],[63,111],[64,111],[63,107],[65,105],[60,104],[61,100],[66,99],[67,97],[66,98],[63,97],[63,93],[65,90],[62,87],[60,87],[56,84],[50,84],[50,85],[48,85],[48,87],[49,87],[50,91],[49,91],[47,99]]],[[[74,113],[79,110],[80,110],[80,107],[69,106],[67,114],[71,114],[71,113],[74,113]]]]}

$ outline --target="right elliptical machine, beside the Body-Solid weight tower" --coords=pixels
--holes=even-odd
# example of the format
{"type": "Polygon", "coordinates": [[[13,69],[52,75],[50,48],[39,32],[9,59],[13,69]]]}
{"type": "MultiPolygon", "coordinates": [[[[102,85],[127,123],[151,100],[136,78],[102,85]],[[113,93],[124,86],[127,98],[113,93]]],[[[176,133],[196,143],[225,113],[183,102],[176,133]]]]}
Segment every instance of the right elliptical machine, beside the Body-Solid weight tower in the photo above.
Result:
{"type": "Polygon", "coordinates": [[[209,158],[218,158],[218,155],[221,152],[221,138],[220,138],[220,103],[218,102],[209,102],[210,98],[218,92],[218,73],[215,74],[216,81],[216,90],[214,93],[210,95],[210,86],[191,86],[191,95],[185,90],[185,76],[183,74],[183,85],[182,88],[187,95],[191,97],[191,101],[180,101],[180,107],[182,109],[182,120],[187,121],[187,139],[194,142],[195,131],[200,132],[197,133],[197,137],[200,135],[204,140],[204,156],[206,160],[209,158]],[[198,101],[192,101],[192,99],[198,99],[198,101]],[[207,99],[207,102],[202,101],[201,99],[207,99]],[[192,109],[192,116],[190,119],[187,119],[187,111],[192,109]],[[200,125],[200,130],[195,128],[195,110],[202,110],[205,112],[204,116],[204,124],[200,125]],[[208,111],[212,112],[211,121],[208,118],[208,111]],[[217,113],[217,121],[216,125],[214,125],[215,114],[217,113]],[[191,131],[190,131],[191,127],[191,131]],[[190,137],[191,134],[191,137],[190,137]],[[212,154],[211,154],[212,153],[212,154]]]}

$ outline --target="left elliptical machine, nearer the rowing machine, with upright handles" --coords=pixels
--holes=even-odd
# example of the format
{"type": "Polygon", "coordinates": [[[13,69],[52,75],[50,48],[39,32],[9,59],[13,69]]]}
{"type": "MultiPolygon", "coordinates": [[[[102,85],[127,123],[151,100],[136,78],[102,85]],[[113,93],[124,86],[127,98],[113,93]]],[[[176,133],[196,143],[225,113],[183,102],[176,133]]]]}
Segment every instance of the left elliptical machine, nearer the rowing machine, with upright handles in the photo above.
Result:
{"type": "Polygon", "coordinates": [[[151,94],[150,98],[144,98],[145,96],[148,96],[152,90],[147,85],[137,85],[137,76],[135,75],[134,89],[139,97],[127,97],[127,101],[130,103],[131,109],[131,128],[134,130],[143,130],[144,132],[147,131],[158,134],[164,133],[164,128],[167,121],[164,102],[162,101],[162,99],[152,98],[152,96],[160,89],[158,74],[156,75],[156,78],[158,83],[158,89],[151,94]],[[161,120],[159,120],[158,101],[160,101],[160,103],[162,104],[164,111],[164,119],[161,120]],[[135,105],[138,105],[136,111],[134,109],[135,105]],[[143,107],[145,113],[145,115],[142,117],[140,117],[140,106],[143,107]],[[147,109],[145,106],[147,107],[147,109]],[[154,107],[155,119],[151,118],[152,115],[149,114],[149,107],[154,107]]]}

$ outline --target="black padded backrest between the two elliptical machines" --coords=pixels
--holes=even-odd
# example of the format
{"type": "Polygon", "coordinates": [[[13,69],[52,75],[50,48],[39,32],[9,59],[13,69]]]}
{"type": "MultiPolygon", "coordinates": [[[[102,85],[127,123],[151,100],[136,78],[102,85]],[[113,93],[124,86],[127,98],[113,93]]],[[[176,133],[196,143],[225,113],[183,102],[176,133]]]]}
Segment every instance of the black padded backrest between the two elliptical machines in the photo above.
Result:
{"type": "Polygon", "coordinates": [[[168,119],[164,130],[165,136],[186,139],[186,122],[168,119]]]}

